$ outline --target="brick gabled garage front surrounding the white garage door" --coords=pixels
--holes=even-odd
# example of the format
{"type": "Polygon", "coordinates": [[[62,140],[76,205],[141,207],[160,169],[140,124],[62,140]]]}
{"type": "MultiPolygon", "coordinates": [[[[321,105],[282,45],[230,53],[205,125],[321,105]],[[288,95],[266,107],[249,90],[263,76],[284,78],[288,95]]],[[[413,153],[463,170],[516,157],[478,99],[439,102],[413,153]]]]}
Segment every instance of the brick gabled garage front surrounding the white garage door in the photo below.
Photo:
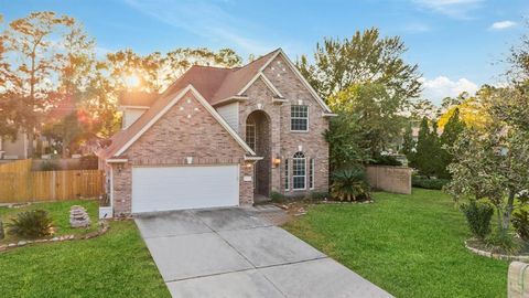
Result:
{"type": "Polygon", "coordinates": [[[193,157],[193,164],[240,164],[239,202],[251,204],[252,182],[244,177],[251,175],[252,168],[245,153],[190,92],[123,152],[126,164],[112,166],[115,213],[131,212],[132,167],[186,164],[186,157],[193,157]]]}

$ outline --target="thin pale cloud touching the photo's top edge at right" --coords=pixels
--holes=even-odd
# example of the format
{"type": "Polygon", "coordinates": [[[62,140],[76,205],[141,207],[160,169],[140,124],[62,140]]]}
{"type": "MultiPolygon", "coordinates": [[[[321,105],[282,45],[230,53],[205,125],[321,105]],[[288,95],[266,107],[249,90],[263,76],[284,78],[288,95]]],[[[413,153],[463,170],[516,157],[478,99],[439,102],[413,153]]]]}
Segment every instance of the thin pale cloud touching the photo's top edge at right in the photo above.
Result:
{"type": "Polygon", "coordinates": [[[469,12],[478,9],[484,0],[412,0],[422,9],[429,9],[438,13],[455,19],[471,19],[469,12]]]}

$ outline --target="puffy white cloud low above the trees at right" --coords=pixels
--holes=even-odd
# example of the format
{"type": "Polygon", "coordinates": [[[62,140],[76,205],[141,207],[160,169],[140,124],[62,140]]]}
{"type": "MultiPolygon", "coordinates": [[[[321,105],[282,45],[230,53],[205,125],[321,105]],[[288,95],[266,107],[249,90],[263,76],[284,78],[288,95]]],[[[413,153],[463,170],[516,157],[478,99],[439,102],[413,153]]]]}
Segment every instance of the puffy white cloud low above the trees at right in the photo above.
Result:
{"type": "Polygon", "coordinates": [[[478,91],[477,84],[467,78],[452,81],[446,76],[438,76],[433,79],[422,78],[422,96],[432,100],[435,105],[440,105],[444,97],[455,97],[462,92],[474,94],[478,91]]]}

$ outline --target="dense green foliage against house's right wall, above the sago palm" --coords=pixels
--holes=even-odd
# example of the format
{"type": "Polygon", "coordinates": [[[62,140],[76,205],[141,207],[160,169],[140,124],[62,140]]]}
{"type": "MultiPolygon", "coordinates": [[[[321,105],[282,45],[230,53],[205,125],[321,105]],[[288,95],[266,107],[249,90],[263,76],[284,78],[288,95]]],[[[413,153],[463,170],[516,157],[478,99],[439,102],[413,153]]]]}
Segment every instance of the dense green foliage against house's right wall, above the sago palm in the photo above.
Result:
{"type": "Polygon", "coordinates": [[[338,114],[330,120],[325,139],[328,142],[328,159],[331,172],[337,169],[361,164],[367,160],[367,153],[358,147],[356,131],[357,121],[354,116],[338,114]]]}

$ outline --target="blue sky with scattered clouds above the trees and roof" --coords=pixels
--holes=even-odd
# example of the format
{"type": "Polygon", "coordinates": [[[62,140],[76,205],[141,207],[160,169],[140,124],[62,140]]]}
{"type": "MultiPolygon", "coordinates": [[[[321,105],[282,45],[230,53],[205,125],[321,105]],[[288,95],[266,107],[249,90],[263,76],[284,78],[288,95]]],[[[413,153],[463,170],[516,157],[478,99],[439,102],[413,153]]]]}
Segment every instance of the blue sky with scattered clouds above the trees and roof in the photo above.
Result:
{"type": "Polygon", "coordinates": [[[0,0],[6,22],[51,10],[79,20],[97,52],[231,47],[245,60],[277,47],[295,60],[325,36],[379,28],[399,35],[418,64],[423,96],[439,104],[501,84],[509,49],[529,31],[528,0],[0,0]]]}

